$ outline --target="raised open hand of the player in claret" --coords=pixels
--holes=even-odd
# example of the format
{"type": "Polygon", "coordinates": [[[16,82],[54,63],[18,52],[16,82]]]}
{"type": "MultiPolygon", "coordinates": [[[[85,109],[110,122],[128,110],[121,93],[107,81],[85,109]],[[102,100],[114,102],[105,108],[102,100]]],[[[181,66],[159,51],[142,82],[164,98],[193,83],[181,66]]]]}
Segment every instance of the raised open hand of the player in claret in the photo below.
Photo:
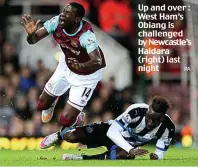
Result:
{"type": "Polygon", "coordinates": [[[21,24],[25,28],[28,35],[33,35],[38,30],[38,26],[40,22],[41,22],[40,20],[37,20],[35,22],[30,15],[25,14],[22,17],[21,24]]]}

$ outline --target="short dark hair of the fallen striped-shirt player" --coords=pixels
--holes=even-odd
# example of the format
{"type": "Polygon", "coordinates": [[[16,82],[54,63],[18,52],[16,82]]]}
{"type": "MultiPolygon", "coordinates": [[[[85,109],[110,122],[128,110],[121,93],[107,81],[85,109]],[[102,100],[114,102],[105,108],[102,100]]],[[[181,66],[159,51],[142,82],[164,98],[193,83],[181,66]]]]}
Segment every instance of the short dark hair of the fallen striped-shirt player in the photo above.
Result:
{"type": "Polygon", "coordinates": [[[165,97],[155,96],[151,108],[156,113],[166,114],[167,110],[171,108],[171,103],[165,97]]]}

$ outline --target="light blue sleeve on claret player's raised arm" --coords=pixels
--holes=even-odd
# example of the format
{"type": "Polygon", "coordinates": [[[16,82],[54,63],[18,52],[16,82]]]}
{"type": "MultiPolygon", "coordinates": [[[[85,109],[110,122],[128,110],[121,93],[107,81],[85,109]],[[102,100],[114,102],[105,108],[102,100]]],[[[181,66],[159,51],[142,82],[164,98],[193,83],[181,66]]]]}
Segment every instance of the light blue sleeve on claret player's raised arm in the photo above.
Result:
{"type": "Polygon", "coordinates": [[[55,16],[50,20],[47,20],[43,25],[49,34],[53,33],[59,24],[59,16],[55,16]]]}

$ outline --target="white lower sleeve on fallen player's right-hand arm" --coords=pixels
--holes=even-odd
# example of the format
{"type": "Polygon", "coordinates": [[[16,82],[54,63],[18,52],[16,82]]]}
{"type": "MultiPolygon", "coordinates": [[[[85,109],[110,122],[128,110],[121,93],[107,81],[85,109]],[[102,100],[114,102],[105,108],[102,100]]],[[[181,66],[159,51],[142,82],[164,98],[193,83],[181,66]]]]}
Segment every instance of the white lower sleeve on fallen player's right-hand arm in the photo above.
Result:
{"type": "Polygon", "coordinates": [[[158,139],[156,143],[155,154],[158,155],[158,159],[163,159],[165,152],[168,150],[173,135],[175,134],[175,128],[165,129],[162,136],[158,139]]]}

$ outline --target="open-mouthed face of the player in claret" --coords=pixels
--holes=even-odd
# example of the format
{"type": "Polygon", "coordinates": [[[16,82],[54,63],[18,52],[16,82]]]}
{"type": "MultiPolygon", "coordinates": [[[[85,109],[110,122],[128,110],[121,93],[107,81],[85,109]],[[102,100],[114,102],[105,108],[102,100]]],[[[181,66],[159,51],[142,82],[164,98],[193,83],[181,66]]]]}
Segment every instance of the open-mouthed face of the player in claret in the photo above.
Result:
{"type": "Polygon", "coordinates": [[[79,17],[76,15],[77,9],[71,5],[67,5],[60,15],[60,25],[63,28],[72,27],[79,21],[79,17]]]}

